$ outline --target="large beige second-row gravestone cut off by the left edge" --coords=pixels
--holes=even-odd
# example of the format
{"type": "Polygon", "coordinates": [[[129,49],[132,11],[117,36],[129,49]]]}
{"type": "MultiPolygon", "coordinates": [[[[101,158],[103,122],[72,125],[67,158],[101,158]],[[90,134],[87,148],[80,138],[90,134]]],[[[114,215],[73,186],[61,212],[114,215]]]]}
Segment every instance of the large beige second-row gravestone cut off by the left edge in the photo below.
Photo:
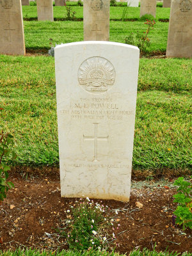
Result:
{"type": "Polygon", "coordinates": [[[0,1],[0,52],[25,55],[24,29],[20,0],[0,1]]]}

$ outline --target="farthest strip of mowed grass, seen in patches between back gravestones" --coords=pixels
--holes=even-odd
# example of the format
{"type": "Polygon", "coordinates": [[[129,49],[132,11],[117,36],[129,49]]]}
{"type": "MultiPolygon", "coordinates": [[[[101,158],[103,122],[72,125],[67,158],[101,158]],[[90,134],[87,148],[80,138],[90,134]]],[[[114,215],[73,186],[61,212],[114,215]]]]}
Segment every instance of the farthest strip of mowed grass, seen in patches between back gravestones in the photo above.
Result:
{"type": "MultiPolygon", "coordinates": [[[[140,7],[122,7],[111,6],[110,7],[110,19],[121,20],[124,8],[127,8],[126,19],[140,19],[140,7]]],[[[83,19],[83,6],[70,6],[70,11],[76,12],[76,19],[83,19]]],[[[22,13],[24,19],[37,19],[36,6],[22,6],[22,13]]],[[[53,7],[54,19],[65,19],[67,17],[67,11],[65,6],[53,7]]],[[[156,20],[169,19],[170,8],[159,8],[156,11],[156,20]]]]}

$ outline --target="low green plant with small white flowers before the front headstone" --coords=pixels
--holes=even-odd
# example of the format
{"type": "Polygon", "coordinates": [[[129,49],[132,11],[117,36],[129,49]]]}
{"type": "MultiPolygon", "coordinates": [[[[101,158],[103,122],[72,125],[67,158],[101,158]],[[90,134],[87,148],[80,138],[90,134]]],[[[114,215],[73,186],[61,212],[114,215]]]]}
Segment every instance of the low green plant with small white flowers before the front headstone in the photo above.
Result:
{"type": "Polygon", "coordinates": [[[88,197],[76,201],[76,206],[67,211],[67,230],[61,232],[67,236],[70,249],[83,251],[107,248],[104,232],[107,232],[110,222],[107,222],[106,210],[104,205],[90,202],[88,197]]]}

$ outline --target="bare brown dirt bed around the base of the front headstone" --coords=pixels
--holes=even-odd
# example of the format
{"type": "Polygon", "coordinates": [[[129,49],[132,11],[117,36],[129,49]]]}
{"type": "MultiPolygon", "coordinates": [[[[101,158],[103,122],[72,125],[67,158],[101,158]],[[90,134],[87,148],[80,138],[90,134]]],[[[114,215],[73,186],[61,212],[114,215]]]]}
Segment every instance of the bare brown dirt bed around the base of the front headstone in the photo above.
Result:
{"type": "MultiPolygon", "coordinates": [[[[58,239],[54,228],[61,227],[67,218],[66,210],[76,198],[60,197],[60,178],[58,172],[46,176],[12,173],[10,180],[15,189],[8,192],[7,199],[0,205],[0,250],[19,246],[47,249],[68,249],[65,239],[58,239]],[[14,205],[10,209],[10,205],[14,205]]],[[[192,252],[191,230],[182,231],[172,226],[172,213],[175,188],[173,183],[164,185],[157,182],[134,181],[130,202],[102,200],[108,205],[110,214],[115,218],[116,252],[126,253],[137,246],[152,250],[192,252]],[[142,208],[136,202],[143,204],[142,208]],[[118,215],[115,214],[118,209],[118,215]],[[120,226],[118,227],[118,224],[120,226]]],[[[94,200],[100,202],[100,200],[94,200]]]]}

